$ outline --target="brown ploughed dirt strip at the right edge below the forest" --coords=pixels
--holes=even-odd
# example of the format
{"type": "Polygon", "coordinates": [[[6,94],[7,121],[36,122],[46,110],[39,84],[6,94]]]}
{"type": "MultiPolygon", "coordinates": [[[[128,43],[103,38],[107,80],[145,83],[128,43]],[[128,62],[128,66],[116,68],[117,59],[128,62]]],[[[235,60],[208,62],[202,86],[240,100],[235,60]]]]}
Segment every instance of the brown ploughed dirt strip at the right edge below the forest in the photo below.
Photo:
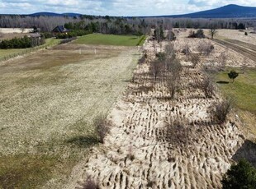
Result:
{"type": "Polygon", "coordinates": [[[256,62],[256,46],[253,44],[247,44],[235,39],[213,39],[213,41],[227,48],[231,48],[235,52],[241,53],[245,57],[250,58],[251,60],[256,62]]]}

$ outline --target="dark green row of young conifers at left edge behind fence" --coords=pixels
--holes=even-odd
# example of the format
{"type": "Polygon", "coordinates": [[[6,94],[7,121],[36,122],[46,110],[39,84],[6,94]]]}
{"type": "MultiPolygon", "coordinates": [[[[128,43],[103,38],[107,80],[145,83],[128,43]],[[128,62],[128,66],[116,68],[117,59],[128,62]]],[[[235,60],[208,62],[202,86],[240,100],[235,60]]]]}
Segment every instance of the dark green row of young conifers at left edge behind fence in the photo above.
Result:
{"type": "Polygon", "coordinates": [[[0,42],[0,48],[31,48],[45,44],[45,38],[31,38],[24,36],[22,38],[3,39],[0,42]]]}

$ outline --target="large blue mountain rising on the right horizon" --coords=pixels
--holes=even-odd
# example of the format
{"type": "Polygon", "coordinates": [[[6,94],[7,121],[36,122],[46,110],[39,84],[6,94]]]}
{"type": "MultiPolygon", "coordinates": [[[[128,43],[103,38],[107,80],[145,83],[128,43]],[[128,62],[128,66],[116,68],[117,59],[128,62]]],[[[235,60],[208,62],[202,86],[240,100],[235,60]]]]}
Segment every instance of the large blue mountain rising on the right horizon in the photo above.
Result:
{"type": "Polygon", "coordinates": [[[158,17],[187,17],[187,18],[256,18],[256,7],[243,7],[235,4],[226,5],[202,12],[183,15],[170,15],[158,17]]]}

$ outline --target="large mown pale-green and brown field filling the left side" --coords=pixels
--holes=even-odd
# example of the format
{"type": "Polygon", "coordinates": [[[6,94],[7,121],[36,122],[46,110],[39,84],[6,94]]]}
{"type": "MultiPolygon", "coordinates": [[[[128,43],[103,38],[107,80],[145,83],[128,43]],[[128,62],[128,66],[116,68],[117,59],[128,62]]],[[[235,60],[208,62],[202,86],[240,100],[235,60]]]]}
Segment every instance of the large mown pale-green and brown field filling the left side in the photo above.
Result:
{"type": "Polygon", "coordinates": [[[93,119],[116,102],[140,56],[81,48],[58,45],[0,65],[0,188],[61,188],[97,145],[93,119]]]}

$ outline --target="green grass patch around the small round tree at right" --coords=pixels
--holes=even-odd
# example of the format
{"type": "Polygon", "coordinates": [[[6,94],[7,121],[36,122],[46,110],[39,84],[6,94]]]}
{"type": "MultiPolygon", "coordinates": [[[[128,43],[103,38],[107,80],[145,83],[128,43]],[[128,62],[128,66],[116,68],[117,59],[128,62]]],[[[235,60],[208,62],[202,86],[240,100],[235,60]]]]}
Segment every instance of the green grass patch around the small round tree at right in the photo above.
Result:
{"type": "Polygon", "coordinates": [[[249,130],[256,135],[256,68],[248,68],[241,71],[239,68],[228,68],[228,71],[219,72],[216,81],[226,81],[217,84],[225,96],[234,99],[235,108],[238,109],[240,117],[249,126],[249,130]],[[234,69],[239,72],[235,82],[230,81],[227,73],[234,69]]]}

